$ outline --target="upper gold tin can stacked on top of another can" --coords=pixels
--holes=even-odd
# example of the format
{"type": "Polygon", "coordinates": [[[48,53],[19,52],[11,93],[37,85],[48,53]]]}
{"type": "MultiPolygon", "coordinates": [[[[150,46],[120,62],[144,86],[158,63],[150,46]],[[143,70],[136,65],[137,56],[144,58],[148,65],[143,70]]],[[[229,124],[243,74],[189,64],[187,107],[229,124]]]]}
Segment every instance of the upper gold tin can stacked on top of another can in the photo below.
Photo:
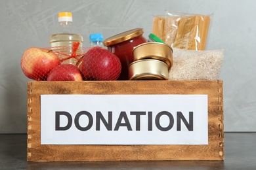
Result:
{"type": "Polygon", "coordinates": [[[133,49],[133,61],[139,59],[159,59],[168,65],[173,66],[173,49],[171,46],[161,42],[145,42],[133,49]]]}

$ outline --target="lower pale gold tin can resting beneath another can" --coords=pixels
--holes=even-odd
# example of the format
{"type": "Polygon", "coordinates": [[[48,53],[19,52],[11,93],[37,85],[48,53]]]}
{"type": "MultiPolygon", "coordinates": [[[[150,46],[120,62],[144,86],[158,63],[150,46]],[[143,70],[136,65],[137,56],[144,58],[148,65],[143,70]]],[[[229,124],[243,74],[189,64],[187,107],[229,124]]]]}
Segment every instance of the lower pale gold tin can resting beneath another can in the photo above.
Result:
{"type": "Polygon", "coordinates": [[[140,59],[129,65],[129,80],[168,80],[168,65],[158,59],[140,59]]]}

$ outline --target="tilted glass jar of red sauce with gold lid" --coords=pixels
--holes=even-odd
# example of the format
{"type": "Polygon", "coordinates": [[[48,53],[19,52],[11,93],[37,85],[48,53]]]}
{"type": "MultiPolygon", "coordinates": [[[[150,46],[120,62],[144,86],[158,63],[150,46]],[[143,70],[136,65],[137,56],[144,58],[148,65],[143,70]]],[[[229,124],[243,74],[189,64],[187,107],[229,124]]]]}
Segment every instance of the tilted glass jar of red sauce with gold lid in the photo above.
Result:
{"type": "Polygon", "coordinates": [[[121,61],[121,74],[117,80],[129,80],[128,69],[130,63],[133,62],[133,48],[147,42],[143,37],[144,30],[142,28],[131,29],[123,33],[119,33],[103,42],[108,50],[115,54],[121,61]]]}

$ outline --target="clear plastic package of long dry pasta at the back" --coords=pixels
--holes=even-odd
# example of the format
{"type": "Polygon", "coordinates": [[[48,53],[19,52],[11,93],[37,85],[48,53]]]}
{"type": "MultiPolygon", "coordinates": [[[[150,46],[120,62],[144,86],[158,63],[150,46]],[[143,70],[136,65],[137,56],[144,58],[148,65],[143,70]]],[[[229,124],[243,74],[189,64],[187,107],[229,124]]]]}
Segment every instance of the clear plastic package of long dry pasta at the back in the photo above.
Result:
{"type": "Polygon", "coordinates": [[[154,16],[153,31],[166,44],[184,50],[205,50],[211,15],[167,11],[154,16]]]}

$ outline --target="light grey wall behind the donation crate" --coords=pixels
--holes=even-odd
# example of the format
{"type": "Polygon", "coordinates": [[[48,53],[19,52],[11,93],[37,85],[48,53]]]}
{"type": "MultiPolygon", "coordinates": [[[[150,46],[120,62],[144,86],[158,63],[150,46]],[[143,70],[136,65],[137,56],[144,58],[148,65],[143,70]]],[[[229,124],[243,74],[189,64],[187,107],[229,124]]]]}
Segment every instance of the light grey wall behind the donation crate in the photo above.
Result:
{"type": "Polygon", "coordinates": [[[152,31],[165,10],[213,14],[208,50],[224,49],[224,131],[256,131],[256,1],[254,0],[0,0],[0,133],[26,133],[28,78],[20,69],[27,48],[49,46],[60,11],[73,13],[89,46],[89,34],[104,38],[136,27],[152,31]]]}

